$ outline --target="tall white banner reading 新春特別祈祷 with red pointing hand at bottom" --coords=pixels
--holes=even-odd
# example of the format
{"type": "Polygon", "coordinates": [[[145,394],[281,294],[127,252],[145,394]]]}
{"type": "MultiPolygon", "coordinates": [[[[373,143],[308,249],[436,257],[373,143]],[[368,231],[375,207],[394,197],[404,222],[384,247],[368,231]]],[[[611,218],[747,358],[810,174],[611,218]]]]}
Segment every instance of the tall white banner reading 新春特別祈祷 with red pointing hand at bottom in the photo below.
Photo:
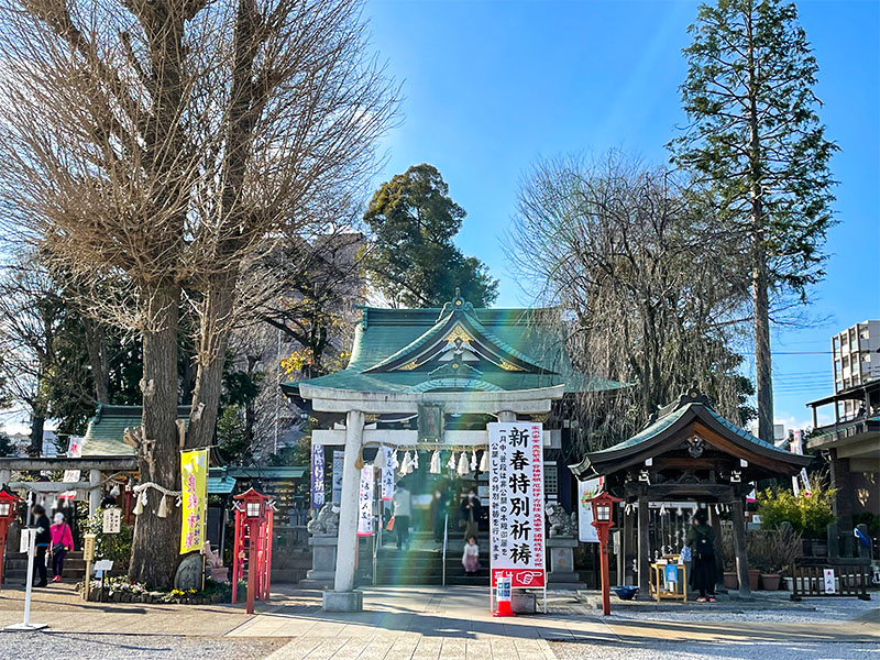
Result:
{"type": "Polygon", "coordinates": [[[488,425],[492,584],[544,586],[543,432],[527,421],[488,425]]]}

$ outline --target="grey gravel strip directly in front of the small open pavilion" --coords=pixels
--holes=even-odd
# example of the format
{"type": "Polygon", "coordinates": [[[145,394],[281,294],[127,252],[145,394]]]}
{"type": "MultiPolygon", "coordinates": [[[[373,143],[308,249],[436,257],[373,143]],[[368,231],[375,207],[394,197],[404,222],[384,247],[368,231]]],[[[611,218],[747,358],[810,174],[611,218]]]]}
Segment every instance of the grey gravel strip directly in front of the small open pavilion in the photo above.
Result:
{"type": "Polygon", "coordinates": [[[778,609],[755,609],[749,612],[748,604],[743,604],[743,612],[712,612],[711,603],[701,603],[704,610],[688,612],[626,612],[612,606],[609,620],[645,620],[645,622],[772,622],[778,624],[813,624],[829,622],[870,620],[880,624],[880,606],[875,595],[871,601],[858,598],[813,598],[802,601],[800,605],[780,607],[778,609]]]}

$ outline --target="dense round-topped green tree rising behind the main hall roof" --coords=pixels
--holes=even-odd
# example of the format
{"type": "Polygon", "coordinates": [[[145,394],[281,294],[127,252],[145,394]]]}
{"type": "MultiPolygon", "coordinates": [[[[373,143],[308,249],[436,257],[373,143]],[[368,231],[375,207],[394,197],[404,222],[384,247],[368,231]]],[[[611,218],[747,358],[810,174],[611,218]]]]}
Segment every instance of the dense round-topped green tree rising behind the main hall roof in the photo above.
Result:
{"type": "Polygon", "coordinates": [[[465,211],[431,165],[415,165],[382,185],[364,215],[374,244],[364,268],[396,307],[439,307],[455,290],[474,307],[488,307],[498,282],[486,265],[452,243],[465,211]]]}

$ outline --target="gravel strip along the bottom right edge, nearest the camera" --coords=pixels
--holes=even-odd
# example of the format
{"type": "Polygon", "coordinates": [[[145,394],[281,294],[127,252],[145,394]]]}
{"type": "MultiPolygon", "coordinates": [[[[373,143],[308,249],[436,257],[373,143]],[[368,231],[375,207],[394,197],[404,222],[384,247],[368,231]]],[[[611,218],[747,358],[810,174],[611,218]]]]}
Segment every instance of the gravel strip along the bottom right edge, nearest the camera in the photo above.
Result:
{"type": "Polygon", "coordinates": [[[651,641],[634,644],[550,642],[559,660],[878,660],[880,645],[719,644],[651,641]]]}

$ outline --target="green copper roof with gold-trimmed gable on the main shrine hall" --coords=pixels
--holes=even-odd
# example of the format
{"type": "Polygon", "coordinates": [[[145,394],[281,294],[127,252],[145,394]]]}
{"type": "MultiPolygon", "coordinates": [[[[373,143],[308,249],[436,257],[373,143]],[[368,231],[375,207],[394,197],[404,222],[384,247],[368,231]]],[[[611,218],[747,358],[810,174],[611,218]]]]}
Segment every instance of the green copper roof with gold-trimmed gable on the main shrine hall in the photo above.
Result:
{"type": "Polygon", "coordinates": [[[356,392],[622,387],[573,369],[557,309],[475,309],[461,298],[442,309],[363,308],[349,365],[305,383],[356,392]]]}

